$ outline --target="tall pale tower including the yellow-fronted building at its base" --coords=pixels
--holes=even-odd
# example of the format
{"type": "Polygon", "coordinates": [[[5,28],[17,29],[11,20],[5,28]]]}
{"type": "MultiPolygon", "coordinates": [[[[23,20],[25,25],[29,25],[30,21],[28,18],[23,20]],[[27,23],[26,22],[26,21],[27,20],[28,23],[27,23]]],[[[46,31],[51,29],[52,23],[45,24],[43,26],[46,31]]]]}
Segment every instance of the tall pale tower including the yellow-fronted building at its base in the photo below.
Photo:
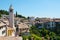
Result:
{"type": "Polygon", "coordinates": [[[9,26],[7,27],[7,36],[15,36],[14,13],[13,7],[9,8],[9,26]]]}

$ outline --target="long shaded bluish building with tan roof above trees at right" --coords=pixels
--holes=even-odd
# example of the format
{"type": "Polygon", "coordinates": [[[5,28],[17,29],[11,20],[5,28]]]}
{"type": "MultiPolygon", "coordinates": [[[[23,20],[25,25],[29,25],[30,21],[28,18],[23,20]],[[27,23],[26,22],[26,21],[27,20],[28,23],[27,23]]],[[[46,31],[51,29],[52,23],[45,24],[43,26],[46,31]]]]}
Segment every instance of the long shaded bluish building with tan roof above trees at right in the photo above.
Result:
{"type": "Polygon", "coordinates": [[[60,18],[39,18],[35,21],[35,25],[37,25],[38,28],[54,28],[58,27],[57,25],[60,25],[60,18]]]}

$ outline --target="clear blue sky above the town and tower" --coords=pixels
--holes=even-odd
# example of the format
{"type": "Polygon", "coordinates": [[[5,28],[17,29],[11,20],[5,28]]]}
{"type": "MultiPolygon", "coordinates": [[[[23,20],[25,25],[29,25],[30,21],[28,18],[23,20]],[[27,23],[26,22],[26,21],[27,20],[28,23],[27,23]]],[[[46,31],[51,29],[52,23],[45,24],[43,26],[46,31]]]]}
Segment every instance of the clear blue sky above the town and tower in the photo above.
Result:
{"type": "Polygon", "coordinates": [[[9,11],[11,4],[26,17],[60,18],[60,0],[0,0],[0,9],[9,11]]]}

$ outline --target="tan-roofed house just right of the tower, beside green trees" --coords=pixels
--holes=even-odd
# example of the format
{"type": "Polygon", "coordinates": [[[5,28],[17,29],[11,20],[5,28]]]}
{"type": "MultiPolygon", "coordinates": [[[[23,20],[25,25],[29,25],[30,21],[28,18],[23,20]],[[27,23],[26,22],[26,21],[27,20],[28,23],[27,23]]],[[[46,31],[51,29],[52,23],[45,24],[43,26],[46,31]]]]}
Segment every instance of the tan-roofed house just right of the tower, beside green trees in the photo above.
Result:
{"type": "Polygon", "coordinates": [[[25,23],[20,23],[17,25],[19,28],[19,35],[21,36],[23,35],[28,35],[29,34],[29,26],[25,23]]]}

